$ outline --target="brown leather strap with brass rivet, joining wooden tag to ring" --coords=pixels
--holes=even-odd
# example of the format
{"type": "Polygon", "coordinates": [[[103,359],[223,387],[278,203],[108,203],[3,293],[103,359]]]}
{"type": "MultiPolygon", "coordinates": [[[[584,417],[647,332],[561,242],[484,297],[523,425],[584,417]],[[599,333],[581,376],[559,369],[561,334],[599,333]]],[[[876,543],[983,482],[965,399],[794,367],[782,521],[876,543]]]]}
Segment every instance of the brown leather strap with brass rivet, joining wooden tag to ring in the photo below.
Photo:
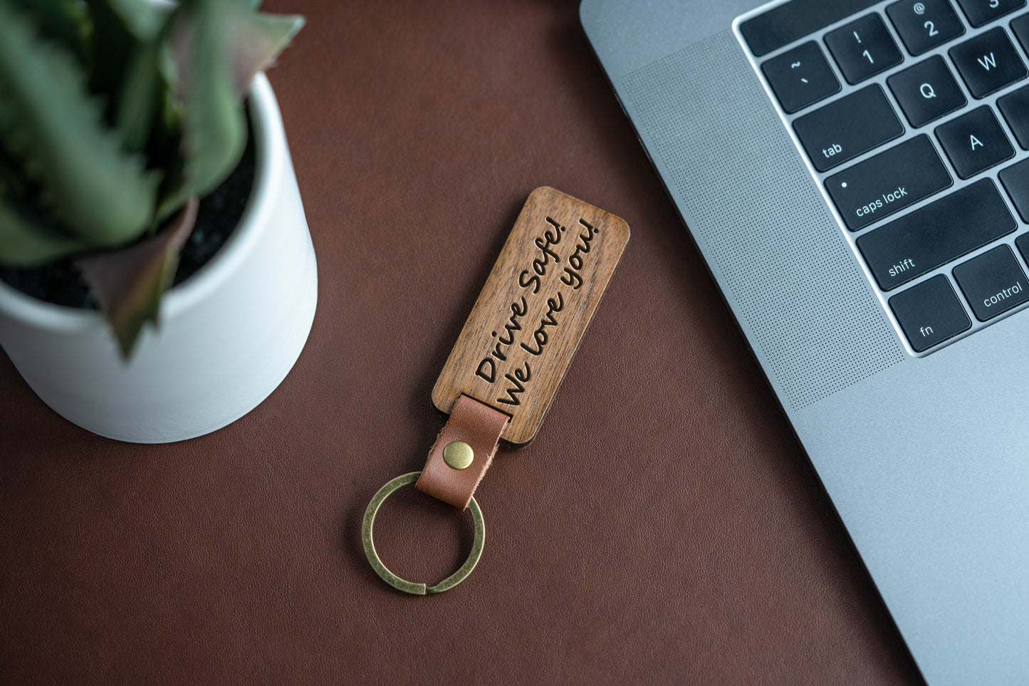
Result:
{"type": "Polygon", "coordinates": [[[456,508],[468,507],[475,487],[493,461],[500,433],[508,419],[500,410],[462,395],[439,432],[415,487],[456,508]],[[443,460],[443,448],[454,441],[464,441],[474,453],[471,465],[463,470],[454,469],[443,460]]]}

